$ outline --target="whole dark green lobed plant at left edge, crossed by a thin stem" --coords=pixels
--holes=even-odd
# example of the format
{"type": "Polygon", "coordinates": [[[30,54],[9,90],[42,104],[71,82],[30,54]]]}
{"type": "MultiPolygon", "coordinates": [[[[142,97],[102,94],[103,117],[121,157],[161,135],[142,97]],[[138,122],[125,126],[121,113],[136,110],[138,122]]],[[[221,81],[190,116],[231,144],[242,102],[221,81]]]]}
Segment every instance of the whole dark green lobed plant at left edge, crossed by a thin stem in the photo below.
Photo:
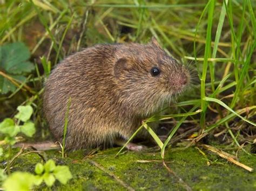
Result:
{"type": "Polygon", "coordinates": [[[0,94],[14,92],[35,66],[28,61],[30,52],[23,43],[0,46],[0,94]]]}

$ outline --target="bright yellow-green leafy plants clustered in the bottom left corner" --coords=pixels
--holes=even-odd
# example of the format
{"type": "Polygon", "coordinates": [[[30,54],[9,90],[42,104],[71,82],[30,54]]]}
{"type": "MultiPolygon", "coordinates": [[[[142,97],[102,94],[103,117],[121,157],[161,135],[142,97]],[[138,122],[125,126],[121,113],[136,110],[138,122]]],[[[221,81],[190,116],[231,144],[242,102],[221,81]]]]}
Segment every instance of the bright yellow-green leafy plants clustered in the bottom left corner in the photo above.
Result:
{"type": "Polygon", "coordinates": [[[56,179],[66,184],[71,178],[72,174],[68,166],[59,166],[55,161],[48,160],[44,165],[36,164],[36,175],[28,172],[12,173],[3,183],[6,190],[30,190],[33,186],[39,186],[44,181],[48,187],[55,183],[56,179]]]}

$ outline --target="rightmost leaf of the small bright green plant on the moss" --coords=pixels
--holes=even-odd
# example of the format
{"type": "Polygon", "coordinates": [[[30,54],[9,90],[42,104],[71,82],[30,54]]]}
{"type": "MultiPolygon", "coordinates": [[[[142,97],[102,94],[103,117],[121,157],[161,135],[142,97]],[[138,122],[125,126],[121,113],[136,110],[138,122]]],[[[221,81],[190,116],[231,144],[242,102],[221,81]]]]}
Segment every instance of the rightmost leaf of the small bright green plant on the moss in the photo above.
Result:
{"type": "Polygon", "coordinates": [[[66,184],[66,182],[72,179],[72,174],[69,171],[68,166],[56,166],[53,174],[55,175],[56,179],[64,185],[66,184]]]}

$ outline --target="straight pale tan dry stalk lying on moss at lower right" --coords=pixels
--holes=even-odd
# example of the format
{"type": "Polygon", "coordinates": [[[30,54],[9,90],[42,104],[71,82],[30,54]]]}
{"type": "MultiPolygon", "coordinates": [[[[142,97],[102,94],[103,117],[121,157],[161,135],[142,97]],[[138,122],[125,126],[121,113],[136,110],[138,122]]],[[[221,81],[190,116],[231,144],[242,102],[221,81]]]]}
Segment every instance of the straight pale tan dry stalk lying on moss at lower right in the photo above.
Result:
{"type": "Polygon", "coordinates": [[[218,150],[217,148],[214,148],[213,146],[210,146],[210,145],[205,145],[205,144],[198,144],[198,146],[201,146],[201,147],[204,147],[206,148],[207,150],[213,152],[213,153],[216,153],[218,154],[220,157],[224,158],[224,159],[227,159],[228,161],[232,162],[233,164],[237,165],[237,166],[240,166],[244,169],[246,169],[247,171],[249,172],[253,172],[253,168],[251,167],[248,167],[244,164],[242,164],[241,162],[238,162],[237,160],[235,160],[235,156],[231,155],[231,154],[228,154],[224,151],[220,151],[218,150]]]}

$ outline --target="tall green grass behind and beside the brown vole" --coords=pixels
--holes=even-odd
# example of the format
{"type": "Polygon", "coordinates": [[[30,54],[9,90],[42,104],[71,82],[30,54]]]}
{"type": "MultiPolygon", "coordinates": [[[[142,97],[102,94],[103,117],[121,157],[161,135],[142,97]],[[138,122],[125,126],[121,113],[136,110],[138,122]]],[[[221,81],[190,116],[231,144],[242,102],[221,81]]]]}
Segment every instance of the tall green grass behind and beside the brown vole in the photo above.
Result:
{"type": "Polygon", "coordinates": [[[32,73],[26,83],[36,94],[24,91],[21,84],[15,95],[2,95],[1,120],[14,114],[17,105],[32,103],[38,129],[43,127],[37,136],[47,137],[49,131],[39,111],[49,66],[54,67],[83,47],[98,43],[147,43],[153,36],[167,53],[196,71],[192,79],[194,88],[170,111],[169,120],[175,122],[174,116],[176,123],[166,142],[162,143],[145,121],[144,128],[149,129],[160,146],[162,158],[166,146],[186,120],[191,126],[200,126],[198,141],[221,131],[228,137],[226,144],[231,146],[255,139],[254,1],[1,2],[0,45],[23,41],[37,65],[37,73],[32,73]],[[194,115],[197,110],[201,111],[200,116],[194,115]],[[178,116],[173,115],[177,113],[178,116]]]}

